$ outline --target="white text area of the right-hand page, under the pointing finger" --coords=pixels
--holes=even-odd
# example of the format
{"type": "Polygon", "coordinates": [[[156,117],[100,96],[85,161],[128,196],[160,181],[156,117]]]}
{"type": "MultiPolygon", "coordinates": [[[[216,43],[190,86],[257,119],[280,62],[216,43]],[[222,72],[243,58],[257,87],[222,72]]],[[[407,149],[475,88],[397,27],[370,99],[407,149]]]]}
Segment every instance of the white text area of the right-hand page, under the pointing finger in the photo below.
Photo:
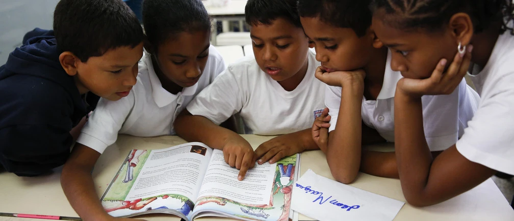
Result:
{"type": "Polygon", "coordinates": [[[215,149],[198,197],[218,196],[245,204],[267,205],[273,188],[277,164],[255,164],[243,181],[237,180],[239,170],[230,167],[223,151],[215,149]]]}

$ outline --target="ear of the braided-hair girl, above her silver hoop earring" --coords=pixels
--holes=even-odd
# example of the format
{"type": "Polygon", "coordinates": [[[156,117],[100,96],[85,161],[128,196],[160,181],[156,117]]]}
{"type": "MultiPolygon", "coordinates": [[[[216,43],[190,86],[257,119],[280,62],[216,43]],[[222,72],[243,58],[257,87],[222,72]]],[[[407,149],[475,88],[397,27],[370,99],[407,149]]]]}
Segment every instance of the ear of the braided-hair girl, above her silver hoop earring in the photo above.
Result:
{"type": "Polygon", "coordinates": [[[456,13],[450,18],[449,29],[456,39],[456,43],[462,45],[469,45],[471,37],[473,36],[473,23],[471,18],[466,13],[456,13]]]}

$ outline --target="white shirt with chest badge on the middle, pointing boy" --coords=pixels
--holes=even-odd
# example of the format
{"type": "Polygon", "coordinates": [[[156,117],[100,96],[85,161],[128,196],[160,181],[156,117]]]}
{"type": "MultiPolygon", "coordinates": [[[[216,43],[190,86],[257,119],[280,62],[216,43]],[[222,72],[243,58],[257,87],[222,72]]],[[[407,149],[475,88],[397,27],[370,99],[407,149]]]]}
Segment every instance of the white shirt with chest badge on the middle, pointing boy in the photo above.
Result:
{"type": "Polygon", "coordinates": [[[325,84],[314,77],[319,65],[309,51],[305,77],[288,92],[253,57],[246,57],[229,65],[187,109],[215,124],[240,113],[247,134],[281,135],[310,128],[324,108],[325,84]]]}

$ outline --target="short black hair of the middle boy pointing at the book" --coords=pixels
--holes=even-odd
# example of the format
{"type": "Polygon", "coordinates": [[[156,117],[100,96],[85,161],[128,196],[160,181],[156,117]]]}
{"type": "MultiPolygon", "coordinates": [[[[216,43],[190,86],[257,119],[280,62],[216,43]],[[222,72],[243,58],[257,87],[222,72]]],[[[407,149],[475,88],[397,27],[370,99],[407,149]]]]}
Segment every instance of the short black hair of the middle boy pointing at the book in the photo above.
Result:
{"type": "Polygon", "coordinates": [[[302,28],[296,0],[248,0],[246,3],[245,19],[250,26],[271,25],[277,18],[285,18],[302,28]]]}

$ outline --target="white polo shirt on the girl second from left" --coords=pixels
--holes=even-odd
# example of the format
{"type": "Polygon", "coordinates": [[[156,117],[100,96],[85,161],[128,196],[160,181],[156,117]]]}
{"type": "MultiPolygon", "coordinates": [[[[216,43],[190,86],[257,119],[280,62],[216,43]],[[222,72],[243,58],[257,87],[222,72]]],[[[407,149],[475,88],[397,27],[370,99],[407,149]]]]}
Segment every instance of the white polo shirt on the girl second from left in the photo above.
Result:
{"type": "Polygon", "coordinates": [[[138,137],[175,135],[173,122],[187,104],[225,70],[225,62],[213,46],[198,82],[172,94],[163,89],[150,56],[139,63],[137,83],[128,96],[118,101],[100,99],[77,140],[102,153],[118,133],[138,137]]]}

